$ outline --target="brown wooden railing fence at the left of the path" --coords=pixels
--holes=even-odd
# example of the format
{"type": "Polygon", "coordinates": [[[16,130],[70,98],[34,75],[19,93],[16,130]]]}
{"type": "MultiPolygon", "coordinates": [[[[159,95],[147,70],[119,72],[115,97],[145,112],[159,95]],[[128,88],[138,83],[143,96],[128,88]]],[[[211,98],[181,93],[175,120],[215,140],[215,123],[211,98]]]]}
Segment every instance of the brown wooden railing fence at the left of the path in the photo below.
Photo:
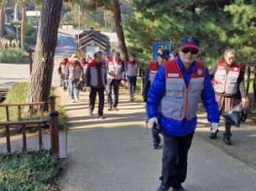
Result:
{"type": "Polygon", "coordinates": [[[0,122],[0,129],[5,129],[6,136],[6,146],[7,151],[11,152],[11,133],[10,128],[20,128],[22,132],[22,148],[26,149],[26,130],[31,128],[31,126],[36,127],[38,130],[38,142],[39,149],[43,148],[43,136],[42,128],[44,126],[50,126],[50,136],[51,136],[51,149],[53,153],[58,156],[59,145],[58,145],[58,112],[55,111],[55,97],[51,97],[48,102],[35,102],[27,104],[0,104],[0,107],[5,108],[6,111],[6,121],[0,122]],[[11,120],[10,109],[18,109],[18,120],[11,120]],[[27,108],[28,110],[22,110],[22,108],[27,108]],[[50,111],[49,119],[46,119],[44,112],[46,109],[50,111]],[[28,111],[28,119],[22,118],[22,111],[28,111]],[[34,117],[35,111],[37,111],[37,117],[34,117]]]}

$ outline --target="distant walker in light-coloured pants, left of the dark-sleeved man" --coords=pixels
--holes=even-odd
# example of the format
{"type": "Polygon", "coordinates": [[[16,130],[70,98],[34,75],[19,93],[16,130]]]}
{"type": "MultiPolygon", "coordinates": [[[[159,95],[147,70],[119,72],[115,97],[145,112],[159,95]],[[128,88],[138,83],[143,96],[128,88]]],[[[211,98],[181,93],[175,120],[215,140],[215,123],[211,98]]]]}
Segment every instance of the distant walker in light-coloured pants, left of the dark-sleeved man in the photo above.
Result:
{"type": "Polygon", "coordinates": [[[72,102],[79,100],[78,82],[82,78],[83,68],[76,54],[72,54],[70,62],[67,63],[68,93],[72,102]]]}

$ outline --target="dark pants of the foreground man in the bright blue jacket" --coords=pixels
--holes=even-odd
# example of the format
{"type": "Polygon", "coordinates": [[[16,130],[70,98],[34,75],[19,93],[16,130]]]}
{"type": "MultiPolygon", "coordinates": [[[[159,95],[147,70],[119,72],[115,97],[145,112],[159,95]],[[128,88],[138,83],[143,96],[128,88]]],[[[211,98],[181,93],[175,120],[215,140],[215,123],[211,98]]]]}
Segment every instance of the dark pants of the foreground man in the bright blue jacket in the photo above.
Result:
{"type": "Polygon", "coordinates": [[[184,137],[164,135],[162,186],[176,188],[187,176],[188,152],[194,132],[184,137]]]}

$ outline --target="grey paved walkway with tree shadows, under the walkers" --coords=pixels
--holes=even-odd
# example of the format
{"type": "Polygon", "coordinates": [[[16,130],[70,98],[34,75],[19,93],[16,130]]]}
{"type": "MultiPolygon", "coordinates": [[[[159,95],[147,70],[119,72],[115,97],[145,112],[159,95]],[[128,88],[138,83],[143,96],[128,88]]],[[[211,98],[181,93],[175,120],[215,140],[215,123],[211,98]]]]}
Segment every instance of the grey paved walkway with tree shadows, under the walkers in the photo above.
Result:
{"type": "MultiPolygon", "coordinates": [[[[154,150],[151,136],[146,134],[143,104],[130,103],[123,94],[120,111],[105,110],[106,119],[101,120],[88,115],[88,93],[82,93],[79,103],[71,104],[62,90],[58,91],[70,127],[68,168],[60,181],[61,190],[156,190],[162,150],[154,150]]],[[[208,130],[203,120],[200,126],[190,150],[186,188],[255,191],[256,169],[204,139],[208,130]]]]}

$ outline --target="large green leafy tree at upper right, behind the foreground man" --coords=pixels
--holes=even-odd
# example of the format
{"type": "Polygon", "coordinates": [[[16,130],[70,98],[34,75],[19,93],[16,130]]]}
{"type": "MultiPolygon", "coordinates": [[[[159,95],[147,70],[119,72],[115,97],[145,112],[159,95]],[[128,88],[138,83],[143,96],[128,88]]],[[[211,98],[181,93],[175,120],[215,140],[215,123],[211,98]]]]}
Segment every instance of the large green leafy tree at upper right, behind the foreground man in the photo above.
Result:
{"type": "Polygon", "coordinates": [[[236,48],[239,62],[255,65],[255,0],[134,0],[133,7],[135,15],[125,25],[128,48],[144,61],[151,59],[154,41],[176,47],[181,37],[197,35],[206,64],[221,59],[225,48],[236,48]]]}

